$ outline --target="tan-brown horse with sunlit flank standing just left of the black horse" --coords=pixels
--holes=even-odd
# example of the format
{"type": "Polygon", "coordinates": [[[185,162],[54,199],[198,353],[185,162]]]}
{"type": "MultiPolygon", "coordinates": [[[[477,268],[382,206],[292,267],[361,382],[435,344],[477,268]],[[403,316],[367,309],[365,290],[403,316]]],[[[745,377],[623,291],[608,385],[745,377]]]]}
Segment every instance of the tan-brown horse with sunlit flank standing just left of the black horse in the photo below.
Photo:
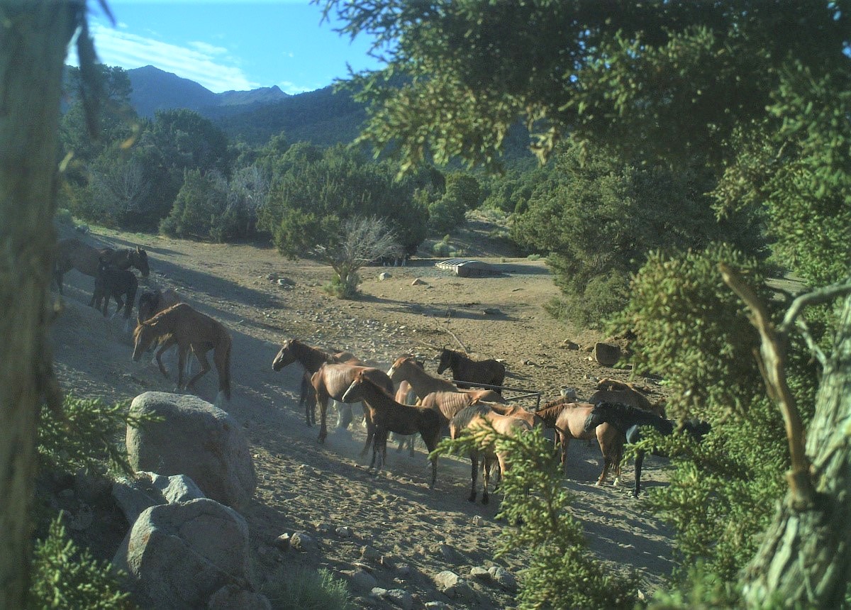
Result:
{"type": "Polygon", "coordinates": [[[603,453],[603,472],[597,479],[597,485],[602,485],[608,470],[614,466],[620,476],[620,456],[623,453],[623,432],[613,425],[601,424],[595,429],[585,431],[585,421],[591,415],[594,405],[590,402],[570,402],[567,398],[546,402],[535,414],[544,420],[547,428],[556,430],[556,442],[561,447],[562,470],[568,473],[567,457],[570,439],[578,438],[591,440],[597,438],[600,452],[603,453]]]}

